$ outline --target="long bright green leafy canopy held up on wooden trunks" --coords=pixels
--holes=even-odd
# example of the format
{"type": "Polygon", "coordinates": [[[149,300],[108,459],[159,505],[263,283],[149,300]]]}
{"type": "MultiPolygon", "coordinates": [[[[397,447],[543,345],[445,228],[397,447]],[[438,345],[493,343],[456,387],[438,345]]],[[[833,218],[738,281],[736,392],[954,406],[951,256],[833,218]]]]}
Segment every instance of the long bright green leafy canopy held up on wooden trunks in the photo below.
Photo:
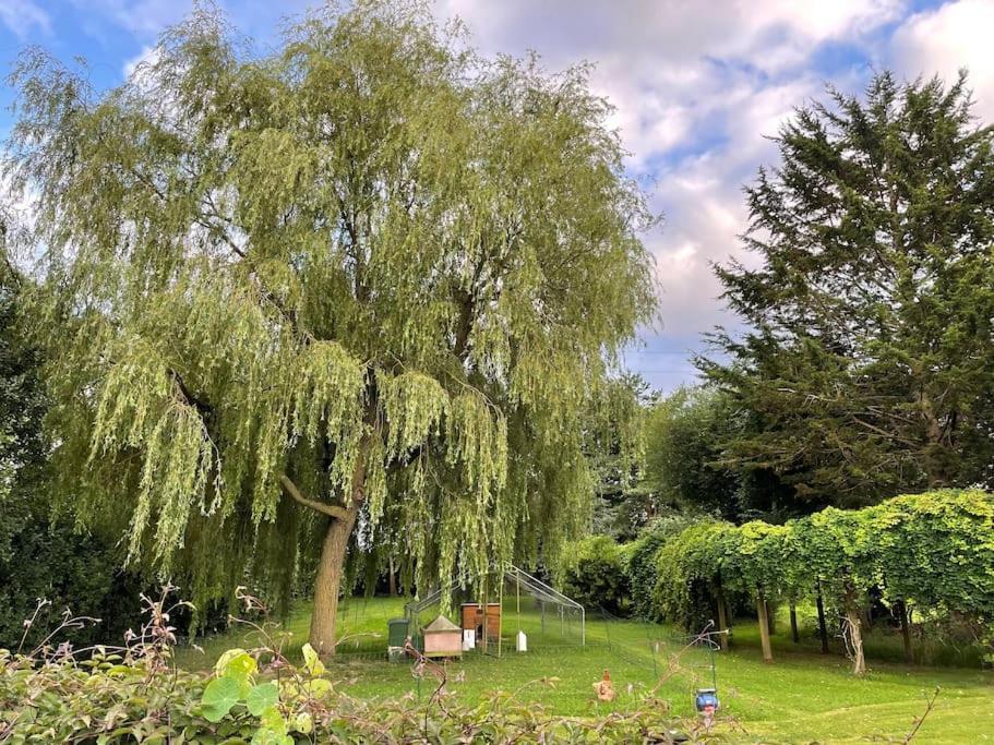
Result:
{"type": "Polygon", "coordinates": [[[878,588],[891,605],[990,628],[994,494],[911,494],[858,510],[829,507],[783,526],[700,522],[660,550],[658,572],[658,606],[678,622],[703,587],[712,598],[724,589],[789,602],[822,593],[859,623],[857,611],[878,588]]]}

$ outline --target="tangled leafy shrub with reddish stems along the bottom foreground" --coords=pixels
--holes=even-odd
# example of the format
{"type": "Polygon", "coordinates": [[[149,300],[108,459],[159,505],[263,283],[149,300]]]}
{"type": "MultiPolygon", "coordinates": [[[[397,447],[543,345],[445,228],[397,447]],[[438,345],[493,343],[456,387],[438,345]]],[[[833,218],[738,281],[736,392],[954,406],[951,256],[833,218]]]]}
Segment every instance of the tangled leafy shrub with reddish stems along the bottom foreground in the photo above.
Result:
{"type": "MultiPolygon", "coordinates": [[[[249,624],[264,639],[256,649],[225,652],[209,676],[172,664],[173,629],[182,604],[167,608],[166,593],[146,599],[149,623],[125,647],[73,652],[51,635],[36,649],[0,650],[0,743],[199,743],[294,745],[295,743],[673,743],[715,742],[699,725],[673,734],[664,701],[647,694],[633,711],[562,718],[532,701],[494,692],[475,705],[446,688],[441,665],[412,647],[416,676],[433,678],[423,701],[362,700],[337,688],[314,650],[304,664],[282,652],[286,638],[268,624],[249,624]],[[91,654],[80,660],[81,654],[91,654]]],[[[250,610],[259,610],[249,598],[250,610]],[[254,609],[252,605],[254,604],[254,609]]],[[[79,625],[67,618],[60,629],[79,625]]],[[[554,685],[555,678],[535,681],[554,685]]]]}

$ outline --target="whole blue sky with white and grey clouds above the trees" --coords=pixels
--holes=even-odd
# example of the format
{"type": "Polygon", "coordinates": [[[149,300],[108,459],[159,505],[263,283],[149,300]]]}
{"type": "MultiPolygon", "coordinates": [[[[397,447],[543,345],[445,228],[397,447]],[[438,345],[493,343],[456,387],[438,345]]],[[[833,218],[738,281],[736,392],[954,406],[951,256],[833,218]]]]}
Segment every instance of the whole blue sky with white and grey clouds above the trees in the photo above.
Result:
{"type": "MultiPolygon", "coordinates": [[[[320,0],[218,0],[265,45],[282,17],[320,0]]],[[[694,378],[700,334],[735,321],[711,262],[740,253],[741,188],[775,159],[774,135],[827,82],[857,92],[874,70],[905,77],[971,73],[977,113],[994,121],[994,0],[434,0],[487,52],[538,51],[550,69],[597,63],[616,106],[632,175],[650,184],[664,224],[646,236],[661,322],[628,365],[669,390],[694,378]]],[[[0,62],[25,45],[83,56],[98,85],[119,83],[190,0],[0,0],[0,62]]],[[[0,105],[10,92],[0,91],[0,105]]],[[[0,112],[0,133],[10,115],[0,112]]]]}

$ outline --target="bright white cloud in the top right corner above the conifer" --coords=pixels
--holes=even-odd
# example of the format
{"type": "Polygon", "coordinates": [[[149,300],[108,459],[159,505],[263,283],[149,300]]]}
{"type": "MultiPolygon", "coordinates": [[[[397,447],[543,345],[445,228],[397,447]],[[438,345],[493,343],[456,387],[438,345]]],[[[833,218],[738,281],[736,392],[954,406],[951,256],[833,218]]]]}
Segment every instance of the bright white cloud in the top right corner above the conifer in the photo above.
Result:
{"type": "Polygon", "coordinates": [[[970,72],[974,111],[994,122],[994,33],[992,0],[959,0],[912,15],[894,34],[893,55],[909,77],[938,73],[955,80],[960,68],[970,72]]]}

